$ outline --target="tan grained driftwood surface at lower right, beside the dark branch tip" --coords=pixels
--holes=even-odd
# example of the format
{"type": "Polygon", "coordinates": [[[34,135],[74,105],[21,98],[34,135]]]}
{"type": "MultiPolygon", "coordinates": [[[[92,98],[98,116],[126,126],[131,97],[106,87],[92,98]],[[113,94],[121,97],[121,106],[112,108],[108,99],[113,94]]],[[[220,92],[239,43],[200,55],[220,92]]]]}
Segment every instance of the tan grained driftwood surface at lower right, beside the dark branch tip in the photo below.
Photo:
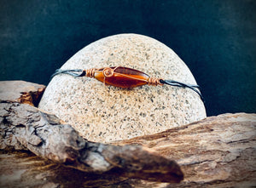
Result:
{"type": "Polygon", "coordinates": [[[176,160],[184,179],[172,187],[256,186],[256,114],[207,117],[115,144],[143,145],[176,160]]]}

